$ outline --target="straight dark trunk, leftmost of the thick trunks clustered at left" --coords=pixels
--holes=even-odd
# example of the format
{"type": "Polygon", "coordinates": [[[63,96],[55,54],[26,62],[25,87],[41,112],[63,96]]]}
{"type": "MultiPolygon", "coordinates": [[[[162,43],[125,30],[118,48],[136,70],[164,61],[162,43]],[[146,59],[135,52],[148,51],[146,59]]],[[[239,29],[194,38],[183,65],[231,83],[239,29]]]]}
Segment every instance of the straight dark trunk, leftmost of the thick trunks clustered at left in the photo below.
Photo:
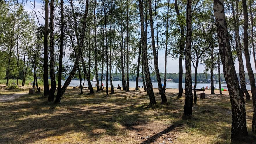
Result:
{"type": "Polygon", "coordinates": [[[45,30],[44,30],[44,96],[49,95],[49,82],[48,82],[48,18],[49,18],[49,3],[45,0],[45,30]]]}

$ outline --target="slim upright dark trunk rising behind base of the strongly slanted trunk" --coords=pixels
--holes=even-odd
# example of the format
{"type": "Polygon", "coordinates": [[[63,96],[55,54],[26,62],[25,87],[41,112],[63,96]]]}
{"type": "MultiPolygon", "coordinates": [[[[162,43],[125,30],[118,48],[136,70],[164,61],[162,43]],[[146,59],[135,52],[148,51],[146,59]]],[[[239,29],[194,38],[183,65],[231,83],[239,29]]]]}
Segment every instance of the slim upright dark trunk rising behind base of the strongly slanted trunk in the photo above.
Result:
{"type": "Polygon", "coordinates": [[[58,93],[61,93],[63,35],[64,35],[64,16],[63,16],[63,0],[61,0],[61,34],[60,34],[59,70],[58,70],[58,93]]]}

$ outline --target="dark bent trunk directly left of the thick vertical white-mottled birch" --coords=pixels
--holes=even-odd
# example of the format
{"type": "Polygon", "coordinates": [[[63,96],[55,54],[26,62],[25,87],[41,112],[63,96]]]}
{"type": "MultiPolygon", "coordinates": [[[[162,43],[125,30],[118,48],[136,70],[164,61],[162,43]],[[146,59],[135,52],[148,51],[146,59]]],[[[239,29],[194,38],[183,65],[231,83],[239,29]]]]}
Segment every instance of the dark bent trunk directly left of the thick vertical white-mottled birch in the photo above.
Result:
{"type": "MultiPolygon", "coordinates": [[[[175,6],[175,10],[176,10],[176,14],[179,17],[180,13],[179,13],[179,8],[178,8],[178,3],[177,0],[174,1],[174,6],[175,6]]],[[[182,93],[183,93],[183,88],[182,88],[182,75],[183,75],[183,67],[182,67],[182,60],[183,60],[183,54],[184,54],[184,26],[181,22],[181,19],[179,20],[179,26],[180,26],[180,41],[179,41],[179,95],[178,97],[182,97],[182,93]]]]}

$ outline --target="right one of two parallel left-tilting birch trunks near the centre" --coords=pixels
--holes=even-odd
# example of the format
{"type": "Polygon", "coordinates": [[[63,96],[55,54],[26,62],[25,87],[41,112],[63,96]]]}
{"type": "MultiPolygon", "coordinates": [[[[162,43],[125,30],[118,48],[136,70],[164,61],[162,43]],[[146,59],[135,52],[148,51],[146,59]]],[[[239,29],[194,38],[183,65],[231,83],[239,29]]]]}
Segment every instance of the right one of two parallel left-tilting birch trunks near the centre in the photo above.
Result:
{"type": "Polygon", "coordinates": [[[159,89],[159,92],[161,95],[162,103],[164,104],[167,102],[167,99],[163,92],[162,81],[161,81],[161,77],[160,77],[159,70],[158,70],[157,53],[156,53],[155,37],[154,37],[154,25],[153,25],[153,17],[152,17],[152,6],[151,5],[152,5],[151,0],[149,0],[148,6],[149,6],[149,17],[150,17],[152,49],[153,49],[153,56],[154,56],[154,66],[155,66],[155,71],[156,71],[156,76],[157,76],[158,89],[159,89]]]}

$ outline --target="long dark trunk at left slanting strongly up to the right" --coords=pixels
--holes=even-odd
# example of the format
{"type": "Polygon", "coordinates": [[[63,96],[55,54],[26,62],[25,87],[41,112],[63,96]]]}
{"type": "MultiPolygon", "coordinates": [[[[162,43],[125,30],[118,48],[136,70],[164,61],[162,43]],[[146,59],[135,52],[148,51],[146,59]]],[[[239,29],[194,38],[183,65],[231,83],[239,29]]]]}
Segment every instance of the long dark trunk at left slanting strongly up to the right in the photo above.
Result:
{"type": "Polygon", "coordinates": [[[74,77],[75,72],[77,71],[78,63],[80,61],[81,54],[82,54],[84,33],[85,33],[85,30],[86,30],[87,14],[88,14],[88,0],[86,0],[86,4],[85,4],[85,13],[84,13],[84,16],[83,16],[82,32],[81,32],[81,36],[80,36],[80,43],[78,45],[78,53],[77,53],[77,56],[76,56],[76,59],[75,59],[74,67],[73,67],[72,71],[70,72],[69,77],[65,81],[65,83],[64,83],[64,85],[63,85],[63,87],[61,89],[61,92],[57,93],[57,96],[56,96],[56,99],[55,99],[55,103],[59,103],[61,101],[62,95],[65,93],[68,85],[70,84],[72,78],[74,77]]]}

